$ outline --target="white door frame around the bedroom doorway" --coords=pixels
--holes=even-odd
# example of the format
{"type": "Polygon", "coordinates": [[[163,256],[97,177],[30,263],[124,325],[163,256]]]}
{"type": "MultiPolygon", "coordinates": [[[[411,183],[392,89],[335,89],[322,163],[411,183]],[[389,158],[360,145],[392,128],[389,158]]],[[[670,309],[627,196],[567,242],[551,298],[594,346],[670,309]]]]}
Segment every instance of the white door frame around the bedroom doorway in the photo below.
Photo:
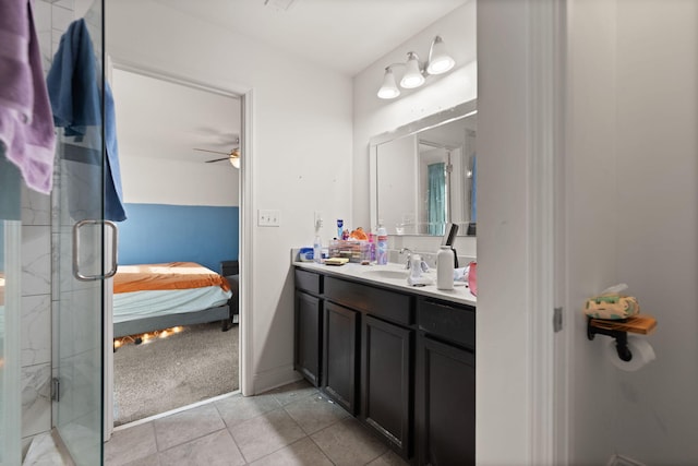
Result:
{"type": "MultiPolygon", "coordinates": [[[[157,69],[142,63],[133,62],[128,59],[107,56],[107,80],[110,82],[113,69],[128,71],[157,80],[167,81],[201,91],[222,94],[229,97],[240,99],[241,121],[240,121],[240,151],[245,154],[240,159],[240,182],[238,184],[239,199],[239,263],[240,263],[240,288],[239,288],[239,386],[243,395],[252,393],[252,284],[250,279],[244,277],[252,276],[252,247],[253,247],[253,227],[254,216],[251,208],[252,200],[252,174],[254,167],[253,153],[253,108],[254,108],[254,89],[252,87],[237,85],[216,85],[200,81],[192,76],[180,75],[157,69]]],[[[113,285],[111,279],[105,280],[105,316],[104,316],[104,340],[105,340],[105,370],[103,371],[103,398],[104,398],[104,441],[108,441],[113,432],[113,285]]]]}

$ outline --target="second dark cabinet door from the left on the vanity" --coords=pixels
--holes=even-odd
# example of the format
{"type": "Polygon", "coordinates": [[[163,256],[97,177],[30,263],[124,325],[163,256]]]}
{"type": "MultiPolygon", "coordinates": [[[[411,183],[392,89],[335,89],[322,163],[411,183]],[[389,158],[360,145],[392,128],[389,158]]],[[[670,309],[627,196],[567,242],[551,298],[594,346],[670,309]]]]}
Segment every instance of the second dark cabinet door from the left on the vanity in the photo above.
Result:
{"type": "Polygon", "coordinates": [[[339,406],[357,414],[358,313],[325,301],[323,391],[339,406]]]}

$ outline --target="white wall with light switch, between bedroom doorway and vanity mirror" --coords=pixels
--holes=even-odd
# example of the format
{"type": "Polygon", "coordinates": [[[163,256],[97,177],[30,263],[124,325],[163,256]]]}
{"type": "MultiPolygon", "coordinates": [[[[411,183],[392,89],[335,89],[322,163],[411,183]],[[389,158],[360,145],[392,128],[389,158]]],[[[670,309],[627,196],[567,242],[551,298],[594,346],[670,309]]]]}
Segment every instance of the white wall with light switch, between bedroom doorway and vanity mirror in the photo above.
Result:
{"type": "Polygon", "coordinates": [[[128,60],[182,77],[254,89],[252,199],[244,208],[276,208],[279,228],[254,228],[250,309],[254,391],[294,379],[291,247],[310,244],[313,211],[351,212],[351,80],[161,4],[107,1],[107,47],[128,60]],[[281,73],[282,72],[282,73],[281,73]]]}

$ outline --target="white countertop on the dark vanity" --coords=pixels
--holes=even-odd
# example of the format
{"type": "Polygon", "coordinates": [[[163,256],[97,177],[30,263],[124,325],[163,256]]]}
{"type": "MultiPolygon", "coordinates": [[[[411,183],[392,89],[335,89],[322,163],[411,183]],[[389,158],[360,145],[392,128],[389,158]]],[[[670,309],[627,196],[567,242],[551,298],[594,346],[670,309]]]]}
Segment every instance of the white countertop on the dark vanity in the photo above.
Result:
{"type": "Polygon", "coordinates": [[[316,264],[314,262],[292,262],[293,266],[305,268],[308,271],[315,271],[326,275],[333,275],[337,277],[351,278],[366,284],[381,285],[386,288],[393,288],[400,291],[412,292],[416,295],[429,296],[432,298],[443,299],[445,301],[459,302],[461,304],[477,306],[478,298],[476,298],[465,283],[456,282],[453,290],[436,289],[436,270],[432,268],[423,275],[433,278],[433,285],[426,286],[411,286],[405,278],[389,278],[377,277],[375,275],[365,274],[368,271],[402,271],[406,272],[404,264],[388,263],[387,265],[361,265],[356,263],[348,263],[345,265],[325,265],[316,264]]]}

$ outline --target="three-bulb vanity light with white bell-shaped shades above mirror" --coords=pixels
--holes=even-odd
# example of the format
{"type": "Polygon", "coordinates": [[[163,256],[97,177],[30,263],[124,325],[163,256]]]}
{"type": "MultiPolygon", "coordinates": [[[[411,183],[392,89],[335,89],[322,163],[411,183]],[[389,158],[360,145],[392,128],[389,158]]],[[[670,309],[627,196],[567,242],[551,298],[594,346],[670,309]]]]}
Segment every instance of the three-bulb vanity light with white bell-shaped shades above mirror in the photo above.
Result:
{"type": "Polygon", "coordinates": [[[378,97],[383,99],[396,98],[400,95],[400,89],[396,84],[393,69],[405,67],[405,73],[400,79],[400,87],[411,89],[421,86],[426,81],[428,75],[443,74],[450,71],[456,65],[456,61],[446,51],[444,39],[441,36],[434,37],[429,49],[429,61],[421,63],[419,56],[407,52],[406,63],[392,63],[385,68],[383,85],[378,89],[378,97]]]}

